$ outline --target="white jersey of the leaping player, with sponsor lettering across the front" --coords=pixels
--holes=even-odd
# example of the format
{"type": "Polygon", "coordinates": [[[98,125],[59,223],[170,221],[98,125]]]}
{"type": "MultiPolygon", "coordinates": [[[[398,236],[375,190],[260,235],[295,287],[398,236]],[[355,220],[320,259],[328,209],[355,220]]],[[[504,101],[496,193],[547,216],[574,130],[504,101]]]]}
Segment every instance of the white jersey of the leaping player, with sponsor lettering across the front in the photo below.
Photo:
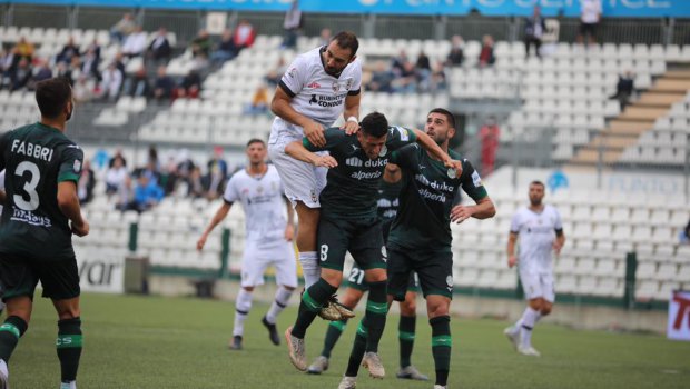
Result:
{"type": "MultiPolygon", "coordinates": [[[[290,106],[295,111],[328,128],[343,114],[345,98],[359,93],[362,62],[355,59],[343,69],[341,77],[333,77],[324,70],[324,50],[325,46],[297,56],[283,74],[279,88],[293,98],[290,106]]],[[[276,132],[283,129],[294,132],[295,137],[304,137],[300,127],[279,117],[273,123],[270,137],[277,137],[276,132]]]]}

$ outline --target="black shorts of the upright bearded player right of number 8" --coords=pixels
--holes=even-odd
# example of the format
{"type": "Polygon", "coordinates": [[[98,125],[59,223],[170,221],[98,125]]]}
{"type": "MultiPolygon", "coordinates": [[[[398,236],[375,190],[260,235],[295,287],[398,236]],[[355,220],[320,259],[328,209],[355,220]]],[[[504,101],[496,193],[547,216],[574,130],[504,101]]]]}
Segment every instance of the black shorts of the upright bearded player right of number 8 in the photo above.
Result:
{"type": "Polygon", "coordinates": [[[388,250],[388,295],[405,300],[410,273],[420,278],[422,292],[453,298],[453,253],[433,251],[388,250]]]}

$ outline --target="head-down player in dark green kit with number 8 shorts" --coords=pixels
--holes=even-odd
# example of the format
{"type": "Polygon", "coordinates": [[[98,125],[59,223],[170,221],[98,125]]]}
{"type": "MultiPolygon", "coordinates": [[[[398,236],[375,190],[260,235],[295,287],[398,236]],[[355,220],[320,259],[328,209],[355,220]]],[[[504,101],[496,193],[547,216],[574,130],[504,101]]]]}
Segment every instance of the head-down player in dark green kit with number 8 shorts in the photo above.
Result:
{"type": "Polygon", "coordinates": [[[383,171],[388,160],[395,157],[395,150],[407,144],[422,144],[453,171],[460,172],[460,161],[452,160],[422,131],[390,128],[386,118],[378,112],[367,114],[356,134],[347,136],[335,128],[326,130],[325,137],[324,147],[312,144],[307,138],[286,147],[286,152],[293,158],[331,168],[319,199],[323,207],[317,241],[322,273],[319,280],[302,296],[295,326],[285,333],[289,357],[297,369],[307,369],[304,349],[306,330],[328,297],[341,286],[345,252],[349,251],[364,269],[369,295],[358,329],[368,333],[367,341],[358,359],[351,357],[347,376],[356,377],[363,362],[373,377],[383,378],[385,371],[378,357],[378,341],[387,312],[386,248],[376,215],[376,194],[383,171]],[[331,154],[314,153],[322,150],[328,150],[331,154]]]}

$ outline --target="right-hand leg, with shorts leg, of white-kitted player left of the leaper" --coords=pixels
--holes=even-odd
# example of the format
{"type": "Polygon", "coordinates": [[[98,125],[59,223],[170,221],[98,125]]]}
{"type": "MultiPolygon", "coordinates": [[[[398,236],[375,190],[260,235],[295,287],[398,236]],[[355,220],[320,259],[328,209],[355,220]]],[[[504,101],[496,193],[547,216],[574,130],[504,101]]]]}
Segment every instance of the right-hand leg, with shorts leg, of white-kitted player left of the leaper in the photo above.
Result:
{"type": "Polygon", "coordinates": [[[280,345],[280,337],[278,337],[276,320],[278,315],[287,307],[290,296],[293,296],[295,288],[297,288],[297,265],[293,247],[289,243],[282,245],[272,253],[272,257],[279,258],[274,262],[278,288],[270,308],[268,308],[268,312],[262,319],[262,323],[268,329],[270,341],[277,346],[280,345]]]}

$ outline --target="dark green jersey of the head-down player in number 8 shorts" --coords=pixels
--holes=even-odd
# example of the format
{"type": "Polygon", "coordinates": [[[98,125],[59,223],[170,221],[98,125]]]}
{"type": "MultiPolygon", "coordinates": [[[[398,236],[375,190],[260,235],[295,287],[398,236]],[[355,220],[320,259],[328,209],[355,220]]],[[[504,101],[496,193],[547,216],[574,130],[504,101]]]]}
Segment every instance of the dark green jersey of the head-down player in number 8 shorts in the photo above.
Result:
{"type": "Polygon", "coordinates": [[[303,143],[307,150],[328,150],[331,157],[338,162],[329,169],[326,187],[321,192],[322,215],[339,219],[376,218],[379,181],[388,160],[397,150],[416,141],[414,131],[391,127],[386,143],[379,157],[368,159],[356,134],[347,136],[338,128],[329,128],[324,132],[326,146],[318,148],[307,138],[303,143]]]}

